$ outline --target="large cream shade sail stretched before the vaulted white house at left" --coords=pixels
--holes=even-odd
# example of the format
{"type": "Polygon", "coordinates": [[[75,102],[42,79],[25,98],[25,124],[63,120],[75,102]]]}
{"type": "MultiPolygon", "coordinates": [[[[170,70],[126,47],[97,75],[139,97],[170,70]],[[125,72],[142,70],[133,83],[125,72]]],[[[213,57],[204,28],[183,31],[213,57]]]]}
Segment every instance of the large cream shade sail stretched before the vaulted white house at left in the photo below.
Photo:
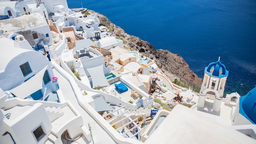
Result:
{"type": "Polygon", "coordinates": [[[48,65],[45,66],[41,71],[39,71],[35,76],[31,77],[28,81],[20,84],[19,86],[9,91],[12,92],[16,97],[20,99],[25,99],[32,93],[42,89],[44,72],[47,67],[48,65]]]}

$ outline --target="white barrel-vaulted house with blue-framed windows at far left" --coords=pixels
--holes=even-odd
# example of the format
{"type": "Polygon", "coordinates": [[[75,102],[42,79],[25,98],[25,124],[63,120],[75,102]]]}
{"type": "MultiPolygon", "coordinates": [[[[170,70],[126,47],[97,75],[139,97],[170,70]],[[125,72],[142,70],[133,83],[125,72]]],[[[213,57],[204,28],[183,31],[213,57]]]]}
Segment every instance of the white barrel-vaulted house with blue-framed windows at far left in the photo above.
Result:
{"type": "MultiPolygon", "coordinates": [[[[51,80],[54,75],[49,60],[42,53],[34,51],[23,36],[18,35],[15,39],[16,41],[13,41],[4,36],[0,38],[2,43],[0,87],[4,91],[13,92],[14,95],[24,85],[31,87],[30,91],[24,92],[23,95],[16,95],[21,99],[47,100],[58,95],[60,92],[58,84],[51,80]],[[42,70],[44,71],[42,72],[42,70]],[[37,76],[38,73],[41,76],[37,76]],[[39,82],[41,88],[36,87],[34,81],[32,82],[31,79],[33,77],[39,77],[35,81],[40,81],[40,77],[42,78],[41,82],[39,82]],[[26,85],[27,81],[34,86],[26,85]],[[17,88],[19,86],[20,88],[17,88]]],[[[61,95],[61,92],[59,95],[61,95]]],[[[58,100],[58,98],[56,97],[55,100],[58,100]]]]}

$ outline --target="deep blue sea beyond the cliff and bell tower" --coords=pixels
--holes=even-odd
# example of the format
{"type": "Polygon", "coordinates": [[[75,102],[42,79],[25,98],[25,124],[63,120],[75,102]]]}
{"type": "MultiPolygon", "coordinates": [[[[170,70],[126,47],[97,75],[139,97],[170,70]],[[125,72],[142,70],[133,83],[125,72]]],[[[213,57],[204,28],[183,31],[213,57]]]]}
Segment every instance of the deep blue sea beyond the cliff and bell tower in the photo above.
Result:
{"type": "Polygon", "coordinates": [[[229,71],[227,93],[245,95],[256,84],[255,0],[68,0],[68,6],[81,2],[156,49],[180,54],[201,78],[220,56],[229,71]]]}

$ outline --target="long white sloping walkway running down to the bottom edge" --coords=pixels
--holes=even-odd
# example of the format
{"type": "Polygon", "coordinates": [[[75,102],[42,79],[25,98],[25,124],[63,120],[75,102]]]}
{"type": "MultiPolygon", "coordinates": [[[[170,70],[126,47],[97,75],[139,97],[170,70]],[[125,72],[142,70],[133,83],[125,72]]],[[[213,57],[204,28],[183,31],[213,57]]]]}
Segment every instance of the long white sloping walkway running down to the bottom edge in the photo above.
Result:
{"type": "MultiPolygon", "coordinates": [[[[79,105],[75,93],[68,82],[68,80],[63,77],[55,68],[53,68],[54,76],[57,76],[59,79],[59,85],[65,100],[69,100],[71,104],[76,108],[76,110],[82,115],[83,121],[85,125],[90,123],[92,127],[92,138],[94,143],[101,144],[114,144],[115,141],[108,135],[106,131],[104,131],[99,124],[79,105]]],[[[86,142],[88,143],[88,142],[86,142]]],[[[92,144],[92,141],[90,142],[92,144]]]]}

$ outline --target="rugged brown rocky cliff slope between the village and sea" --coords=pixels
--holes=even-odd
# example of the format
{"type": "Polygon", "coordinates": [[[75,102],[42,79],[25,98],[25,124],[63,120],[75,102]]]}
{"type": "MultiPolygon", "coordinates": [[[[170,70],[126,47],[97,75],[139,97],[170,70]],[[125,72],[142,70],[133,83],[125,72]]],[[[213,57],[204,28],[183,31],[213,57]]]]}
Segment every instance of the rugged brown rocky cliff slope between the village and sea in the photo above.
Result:
{"type": "Polygon", "coordinates": [[[111,23],[106,16],[97,12],[96,14],[102,25],[113,28],[113,34],[116,38],[123,38],[126,41],[124,45],[128,46],[131,51],[139,51],[141,54],[155,60],[157,66],[172,81],[177,78],[190,86],[195,85],[197,88],[201,87],[202,79],[189,68],[187,62],[179,54],[174,54],[168,50],[155,49],[154,46],[147,41],[127,34],[124,29],[111,23]]]}

